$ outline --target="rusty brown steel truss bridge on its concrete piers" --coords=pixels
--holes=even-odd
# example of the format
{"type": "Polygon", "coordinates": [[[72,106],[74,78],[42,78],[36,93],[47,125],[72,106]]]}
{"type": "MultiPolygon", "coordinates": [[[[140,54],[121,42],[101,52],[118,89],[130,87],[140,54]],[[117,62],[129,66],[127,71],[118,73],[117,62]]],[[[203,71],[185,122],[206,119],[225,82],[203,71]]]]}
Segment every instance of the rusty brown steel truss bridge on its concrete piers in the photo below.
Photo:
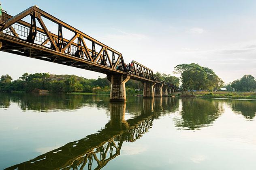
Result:
{"type": "Polygon", "coordinates": [[[126,67],[121,53],[38,6],[32,6],[14,17],[5,11],[2,14],[1,51],[107,74],[111,82],[111,101],[126,100],[125,83],[129,79],[143,82],[144,97],[168,95],[168,85],[154,78],[151,69],[135,61],[131,62],[131,67],[126,67]],[[30,17],[30,23],[22,20],[25,17],[30,17]],[[56,29],[47,28],[43,20],[57,24],[56,29]],[[63,36],[65,33],[72,37],[67,39],[63,36]],[[88,48],[89,44],[92,49],[88,48]]]}

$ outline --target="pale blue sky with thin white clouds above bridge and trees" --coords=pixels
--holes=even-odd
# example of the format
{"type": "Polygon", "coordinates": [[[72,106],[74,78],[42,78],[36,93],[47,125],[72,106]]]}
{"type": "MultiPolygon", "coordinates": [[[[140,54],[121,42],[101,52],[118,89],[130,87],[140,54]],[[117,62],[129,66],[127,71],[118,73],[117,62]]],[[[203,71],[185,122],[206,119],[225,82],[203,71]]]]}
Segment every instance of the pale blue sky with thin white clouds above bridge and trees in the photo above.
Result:
{"type": "MultiPolygon", "coordinates": [[[[1,4],[10,15],[38,5],[122,53],[126,63],[135,60],[154,73],[174,75],[175,66],[193,62],[213,69],[225,83],[245,74],[256,77],[254,0],[2,0],[1,4]]],[[[0,52],[0,75],[18,79],[23,73],[106,77],[0,52]]]]}

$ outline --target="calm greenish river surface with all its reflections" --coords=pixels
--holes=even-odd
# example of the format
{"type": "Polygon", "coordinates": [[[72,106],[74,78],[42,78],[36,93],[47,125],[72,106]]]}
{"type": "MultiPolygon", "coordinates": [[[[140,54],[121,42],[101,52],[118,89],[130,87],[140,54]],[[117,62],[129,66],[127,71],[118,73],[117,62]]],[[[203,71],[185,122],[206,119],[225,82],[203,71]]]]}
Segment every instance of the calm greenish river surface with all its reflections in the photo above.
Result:
{"type": "Polygon", "coordinates": [[[0,93],[0,169],[256,169],[256,101],[127,100],[0,93]]]}

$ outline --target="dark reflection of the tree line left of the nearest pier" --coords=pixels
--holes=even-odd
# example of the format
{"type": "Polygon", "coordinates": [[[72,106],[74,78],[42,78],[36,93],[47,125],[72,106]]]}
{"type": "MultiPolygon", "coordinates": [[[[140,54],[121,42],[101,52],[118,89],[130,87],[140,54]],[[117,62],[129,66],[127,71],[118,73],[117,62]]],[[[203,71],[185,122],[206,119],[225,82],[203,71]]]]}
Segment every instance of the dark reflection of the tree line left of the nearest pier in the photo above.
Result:
{"type": "Polygon", "coordinates": [[[1,93],[0,107],[8,108],[10,103],[17,103],[21,110],[34,112],[75,110],[83,106],[102,109],[108,108],[109,96],[72,95],[37,93],[1,93]]]}

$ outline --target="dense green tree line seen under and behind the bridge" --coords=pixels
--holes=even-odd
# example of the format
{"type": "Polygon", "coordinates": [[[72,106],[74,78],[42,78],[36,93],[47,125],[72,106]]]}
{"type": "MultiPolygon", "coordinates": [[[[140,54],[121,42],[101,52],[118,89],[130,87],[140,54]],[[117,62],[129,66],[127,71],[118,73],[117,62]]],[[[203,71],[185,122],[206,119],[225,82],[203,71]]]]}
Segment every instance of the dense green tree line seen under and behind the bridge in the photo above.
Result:
{"type": "MultiPolygon", "coordinates": [[[[173,82],[179,86],[178,78],[157,73],[161,80],[173,82]]],[[[24,73],[19,79],[14,80],[10,75],[2,75],[0,78],[0,91],[26,91],[38,92],[47,90],[52,93],[110,93],[110,82],[107,78],[86,79],[75,75],[54,75],[49,73],[24,73]]],[[[128,94],[142,93],[143,84],[139,81],[129,80],[126,83],[128,94]],[[135,91],[135,89],[137,89],[135,91]]]]}

